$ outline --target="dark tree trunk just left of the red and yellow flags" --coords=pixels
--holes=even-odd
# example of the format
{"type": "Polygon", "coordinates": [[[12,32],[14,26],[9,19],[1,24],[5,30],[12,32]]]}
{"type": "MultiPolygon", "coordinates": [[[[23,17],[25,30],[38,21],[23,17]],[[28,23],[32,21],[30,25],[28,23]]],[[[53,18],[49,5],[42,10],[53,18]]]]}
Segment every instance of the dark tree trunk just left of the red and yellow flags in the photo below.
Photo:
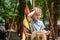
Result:
{"type": "Polygon", "coordinates": [[[24,19],[24,8],[26,6],[26,3],[23,0],[19,0],[19,6],[18,6],[18,33],[20,34],[20,38],[22,38],[22,29],[23,29],[23,19],[24,19]]]}

